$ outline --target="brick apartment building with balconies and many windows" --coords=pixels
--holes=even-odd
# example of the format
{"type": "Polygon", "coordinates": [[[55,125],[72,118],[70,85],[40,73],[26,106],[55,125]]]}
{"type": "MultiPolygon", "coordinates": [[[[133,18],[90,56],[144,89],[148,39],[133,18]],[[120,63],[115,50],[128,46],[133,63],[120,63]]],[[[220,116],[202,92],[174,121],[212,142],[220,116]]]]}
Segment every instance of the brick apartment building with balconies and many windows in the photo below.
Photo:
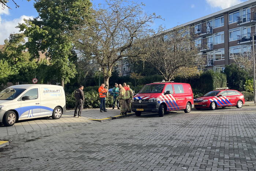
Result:
{"type": "MultiPolygon", "coordinates": [[[[256,34],[256,0],[249,0],[182,24],[205,59],[205,70],[222,71],[235,55],[252,51],[256,34]]],[[[164,31],[168,35],[172,29],[164,31]]]]}

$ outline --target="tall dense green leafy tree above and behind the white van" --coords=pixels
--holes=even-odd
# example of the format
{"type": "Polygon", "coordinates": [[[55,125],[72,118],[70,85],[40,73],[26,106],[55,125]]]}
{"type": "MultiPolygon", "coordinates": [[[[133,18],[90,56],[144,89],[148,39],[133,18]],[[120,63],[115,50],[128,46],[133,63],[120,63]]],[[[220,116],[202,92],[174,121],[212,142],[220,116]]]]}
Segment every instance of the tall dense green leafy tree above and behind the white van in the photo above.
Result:
{"type": "Polygon", "coordinates": [[[77,73],[74,64],[72,31],[88,21],[91,2],[89,0],[35,0],[34,7],[39,16],[19,24],[28,41],[26,47],[34,59],[45,52],[52,66],[54,79],[64,83],[77,73]]]}

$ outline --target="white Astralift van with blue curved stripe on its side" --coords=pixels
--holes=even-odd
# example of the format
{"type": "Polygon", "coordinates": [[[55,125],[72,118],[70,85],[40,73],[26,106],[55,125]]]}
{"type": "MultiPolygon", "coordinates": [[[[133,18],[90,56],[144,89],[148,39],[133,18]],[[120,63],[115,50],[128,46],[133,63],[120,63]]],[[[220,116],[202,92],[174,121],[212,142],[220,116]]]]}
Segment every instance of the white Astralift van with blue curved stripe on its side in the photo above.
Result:
{"type": "Polygon", "coordinates": [[[62,86],[44,84],[14,85],[0,92],[0,123],[12,126],[17,120],[51,116],[59,119],[66,112],[62,86]]]}

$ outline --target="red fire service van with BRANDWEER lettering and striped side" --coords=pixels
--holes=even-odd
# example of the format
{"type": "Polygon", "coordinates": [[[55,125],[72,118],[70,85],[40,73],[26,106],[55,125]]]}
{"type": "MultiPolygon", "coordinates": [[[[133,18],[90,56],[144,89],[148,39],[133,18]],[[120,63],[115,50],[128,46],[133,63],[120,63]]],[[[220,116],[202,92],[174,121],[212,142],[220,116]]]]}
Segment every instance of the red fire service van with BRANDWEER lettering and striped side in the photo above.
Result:
{"type": "Polygon", "coordinates": [[[191,111],[193,92],[188,83],[154,82],[145,85],[133,97],[131,110],[136,116],[141,112],[158,112],[162,117],[167,111],[191,111]]]}

